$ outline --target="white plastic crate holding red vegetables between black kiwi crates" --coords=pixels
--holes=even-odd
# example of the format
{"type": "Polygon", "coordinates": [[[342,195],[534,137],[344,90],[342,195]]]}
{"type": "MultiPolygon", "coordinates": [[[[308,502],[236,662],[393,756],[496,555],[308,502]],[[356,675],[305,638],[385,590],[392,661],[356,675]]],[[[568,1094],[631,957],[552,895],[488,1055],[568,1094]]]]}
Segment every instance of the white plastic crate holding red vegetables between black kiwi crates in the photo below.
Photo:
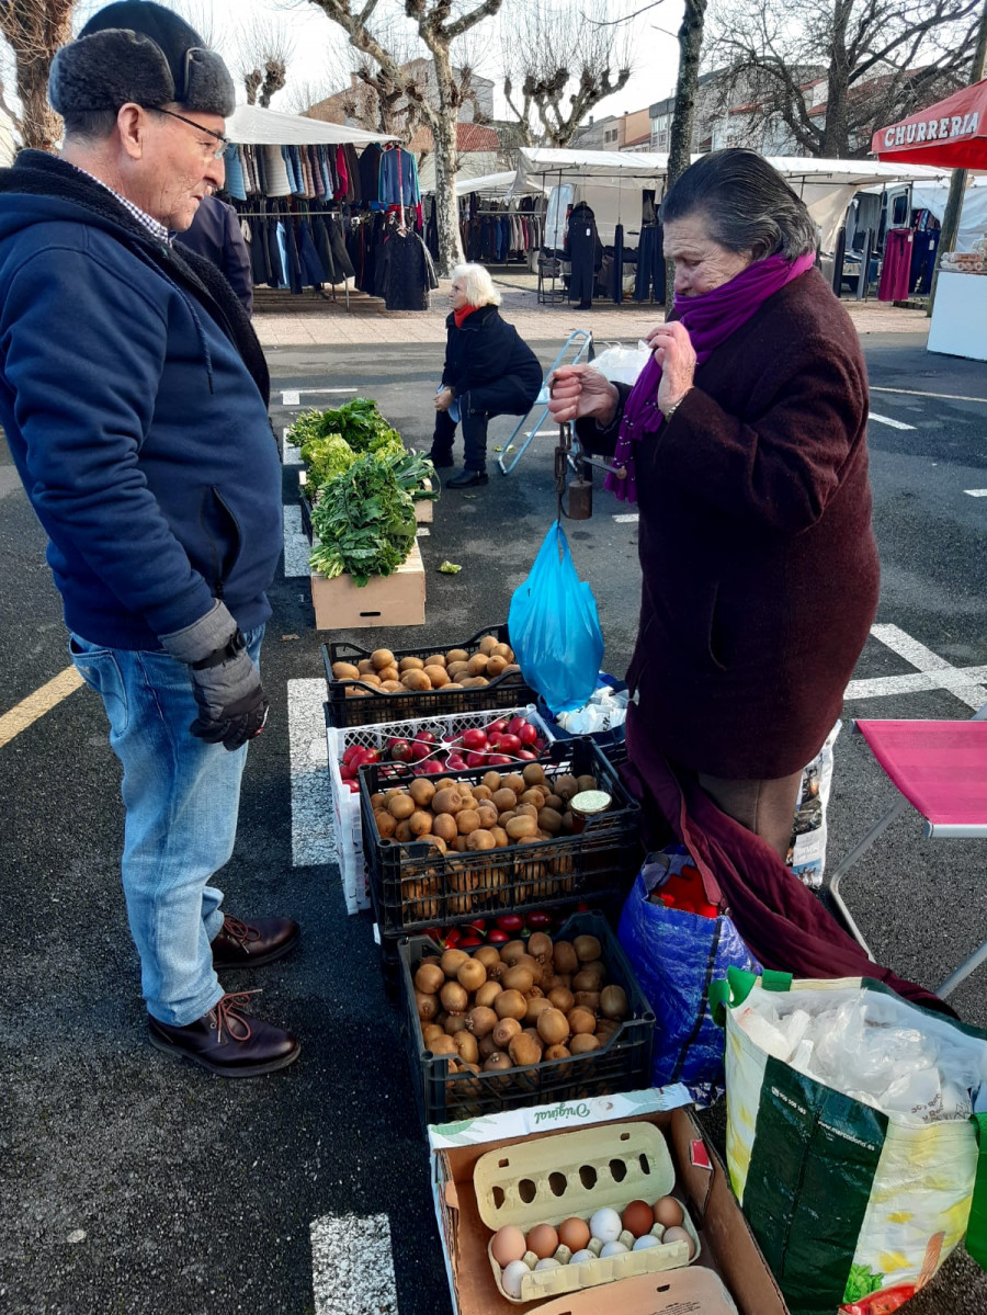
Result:
{"type": "Polygon", "coordinates": [[[371,907],[371,893],[367,885],[367,869],[363,861],[363,831],[360,827],[360,796],[354,793],[343,777],[339,767],[343,753],[354,744],[364,748],[379,748],[392,736],[413,739],[417,731],[431,731],[436,739],[443,735],[460,735],[463,731],[474,727],[484,729],[505,717],[523,717],[538,729],[539,735],[547,743],[552,743],[556,736],[535,710],[534,704],[527,707],[485,709],[473,713],[453,713],[447,717],[419,717],[406,722],[380,722],[376,726],[327,726],[326,739],[329,743],[329,778],[333,785],[333,818],[336,831],[336,853],[339,856],[339,872],[343,877],[343,894],[346,897],[346,911],[359,913],[371,907]]]}

